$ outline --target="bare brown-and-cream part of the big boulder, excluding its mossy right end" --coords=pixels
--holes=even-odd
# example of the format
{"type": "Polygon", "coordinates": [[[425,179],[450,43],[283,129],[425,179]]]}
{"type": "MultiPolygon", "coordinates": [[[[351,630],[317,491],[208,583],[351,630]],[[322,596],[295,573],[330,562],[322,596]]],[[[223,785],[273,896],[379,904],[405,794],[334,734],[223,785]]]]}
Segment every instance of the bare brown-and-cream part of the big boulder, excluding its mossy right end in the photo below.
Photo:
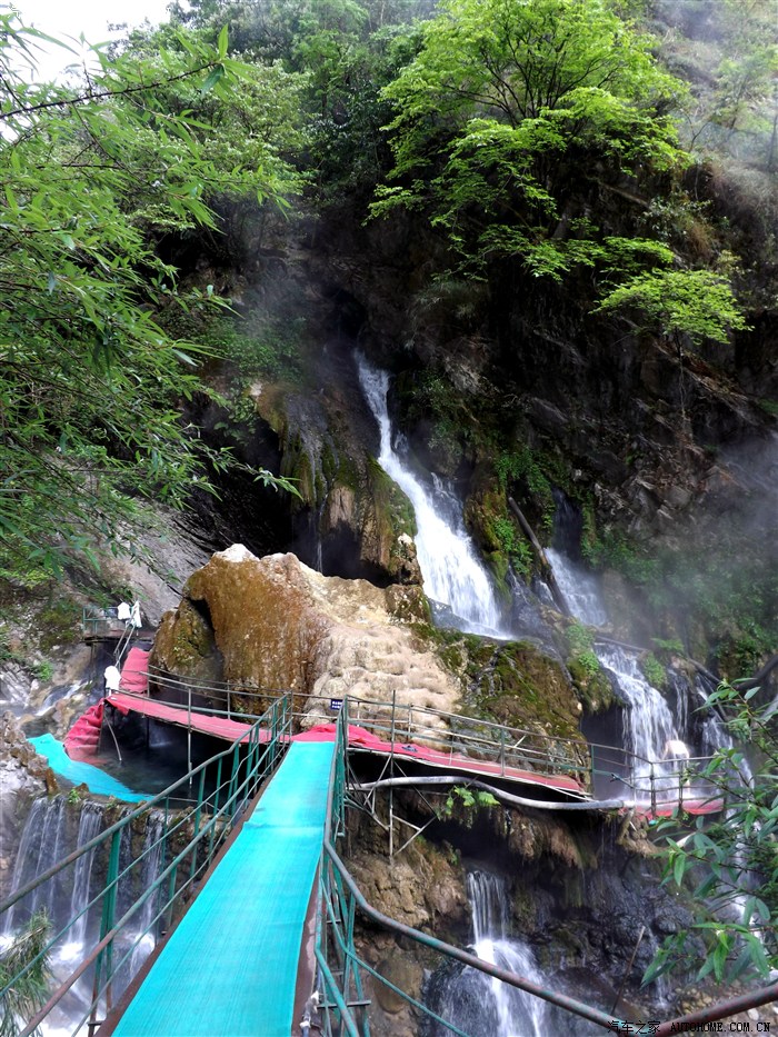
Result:
{"type": "Polygon", "coordinates": [[[190,577],[180,606],[163,618],[150,662],[245,689],[396,696],[453,711],[457,681],[399,618],[419,615],[418,587],[325,577],[293,555],[256,558],[233,545],[190,577]]]}

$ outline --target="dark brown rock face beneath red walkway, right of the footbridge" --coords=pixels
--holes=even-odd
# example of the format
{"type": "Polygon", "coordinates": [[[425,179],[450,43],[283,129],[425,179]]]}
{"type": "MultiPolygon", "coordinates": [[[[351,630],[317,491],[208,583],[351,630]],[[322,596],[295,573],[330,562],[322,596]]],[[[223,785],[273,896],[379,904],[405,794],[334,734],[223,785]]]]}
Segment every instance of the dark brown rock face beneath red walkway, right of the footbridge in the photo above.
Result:
{"type": "MultiPolygon", "coordinates": [[[[543,985],[608,1009],[624,985],[621,997],[636,1015],[641,1005],[656,1008],[659,991],[640,989],[642,971],[657,939],[687,926],[690,916],[659,884],[660,867],[639,825],[626,818],[565,817],[461,801],[449,810],[445,799],[446,794],[436,797],[429,790],[426,800],[415,792],[395,794],[396,815],[428,827],[423,839],[393,858],[387,856],[387,836],[378,825],[365,814],[351,817],[348,862],[373,907],[469,947],[467,875],[489,871],[505,885],[512,938],[531,948],[543,985]]],[[[377,809],[387,822],[386,801],[377,809]]],[[[406,831],[397,826],[396,847],[406,831]]],[[[426,1004],[440,1008],[447,989],[465,996],[460,967],[421,945],[361,925],[357,939],[380,975],[395,981],[401,977],[399,985],[417,996],[422,993],[426,1004]]],[[[369,996],[371,1033],[411,1037],[419,1031],[408,1006],[380,981],[369,980],[369,996]]],[[[665,989],[662,996],[676,1001],[675,991],[665,989]]],[[[566,1033],[570,1021],[555,1017],[547,1031],[566,1033]]],[[[442,1037],[442,1028],[431,1025],[422,1033],[442,1037]]]]}

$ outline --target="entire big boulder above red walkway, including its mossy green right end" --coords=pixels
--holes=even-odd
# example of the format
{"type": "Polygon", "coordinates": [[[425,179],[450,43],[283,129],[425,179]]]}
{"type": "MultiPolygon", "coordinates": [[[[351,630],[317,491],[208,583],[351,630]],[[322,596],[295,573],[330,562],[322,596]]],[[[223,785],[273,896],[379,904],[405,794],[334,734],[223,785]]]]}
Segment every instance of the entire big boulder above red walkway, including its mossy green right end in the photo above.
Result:
{"type": "Polygon", "coordinates": [[[233,545],[213,555],[163,617],[149,661],[178,677],[228,684],[246,712],[266,708],[272,690],[296,692],[296,711],[319,715],[349,695],[586,746],[582,707],[558,658],[530,644],[436,630],[417,585],[327,577],[291,554],[257,558],[233,545]]]}

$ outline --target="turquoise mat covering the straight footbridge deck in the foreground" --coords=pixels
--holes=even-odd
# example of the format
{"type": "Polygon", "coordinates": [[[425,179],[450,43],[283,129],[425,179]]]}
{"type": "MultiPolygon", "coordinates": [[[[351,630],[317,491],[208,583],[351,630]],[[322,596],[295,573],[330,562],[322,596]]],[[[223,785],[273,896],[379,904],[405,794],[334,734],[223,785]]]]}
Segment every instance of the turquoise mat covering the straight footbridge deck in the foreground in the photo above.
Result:
{"type": "Polygon", "coordinates": [[[332,742],[295,742],[117,1037],[289,1037],[332,742]]]}

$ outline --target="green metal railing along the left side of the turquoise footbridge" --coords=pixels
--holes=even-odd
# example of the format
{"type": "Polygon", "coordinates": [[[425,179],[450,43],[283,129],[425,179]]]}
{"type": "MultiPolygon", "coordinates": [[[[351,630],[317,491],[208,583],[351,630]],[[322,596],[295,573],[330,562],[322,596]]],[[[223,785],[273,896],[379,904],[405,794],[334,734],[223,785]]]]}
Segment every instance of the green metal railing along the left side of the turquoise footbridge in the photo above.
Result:
{"type": "Polygon", "coordinates": [[[33,1034],[68,997],[70,1013],[78,1004],[79,1018],[73,1024],[73,1033],[84,1024],[89,1033],[100,1025],[98,1015],[111,1011],[117,997],[142,966],[139,958],[144,959],[146,955],[137,955],[137,949],[144,940],[156,943],[178,920],[261,782],[276,769],[290,731],[291,710],[285,696],[273,702],[241,739],[110,825],[0,904],[1,928],[6,919],[16,921],[17,913],[29,914],[37,903],[47,898],[48,891],[53,893],[53,899],[66,899],[62,894],[72,889],[79,862],[86,861],[88,870],[106,869],[100,891],[91,896],[90,889],[86,905],[78,905],[79,909],[66,921],[56,923],[56,931],[41,953],[0,990],[2,997],[42,958],[58,963],[56,989],[34,1017],[24,1020],[20,1037],[33,1034]],[[193,781],[197,781],[197,797],[180,809],[179,804],[188,797],[193,781]],[[152,838],[141,835],[150,830],[152,838]],[[143,841],[142,850],[133,852],[132,842],[139,838],[143,841]],[[152,859],[156,867],[149,869],[152,859]],[[149,870],[156,874],[147,874],[149,870]],[[99,925],[94,925],[98,914],[99,925]],[[78,964],[71,967],[68,958],[72,950],[69,953],[68,948],[77,943],[81,921],[86,931],[78,941],[78,964]],[[78,999],[71,995],[77,984],[78,999]],[[89,987],[91,994],[86,993],[89,987]]]}

